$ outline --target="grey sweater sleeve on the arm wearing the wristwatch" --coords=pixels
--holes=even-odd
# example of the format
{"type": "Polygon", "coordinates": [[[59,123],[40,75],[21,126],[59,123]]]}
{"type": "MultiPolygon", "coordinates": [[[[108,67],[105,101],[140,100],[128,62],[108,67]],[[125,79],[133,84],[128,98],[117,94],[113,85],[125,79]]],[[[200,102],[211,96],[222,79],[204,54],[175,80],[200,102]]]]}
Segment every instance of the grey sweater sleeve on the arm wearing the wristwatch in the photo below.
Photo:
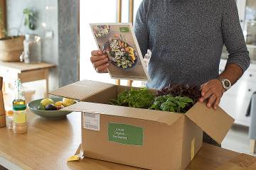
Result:
{"type": "Polygon", "coordinates": [[[222,33],[229,54],[227,64],[237,64],[245,72],[250,65],[250,57],[240,26],[238,8],[235,0],[225,0],[224,4],[222,33]]]}

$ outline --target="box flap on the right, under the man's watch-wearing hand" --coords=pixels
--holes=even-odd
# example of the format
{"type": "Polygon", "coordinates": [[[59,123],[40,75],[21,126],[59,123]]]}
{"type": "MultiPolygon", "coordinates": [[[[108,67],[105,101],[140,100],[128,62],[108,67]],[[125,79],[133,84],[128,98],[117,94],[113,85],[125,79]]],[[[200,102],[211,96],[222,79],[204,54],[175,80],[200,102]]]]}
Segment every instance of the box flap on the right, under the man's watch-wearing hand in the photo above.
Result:
{"type": "Polygon", "coordinates": [[[217,111],[213,108],[207,108],[206,103],[196,103],[186,116],[205,131],[219,144],[223,141],[234,119],[225,113],[222,108],[218,107],[217,111]]]}

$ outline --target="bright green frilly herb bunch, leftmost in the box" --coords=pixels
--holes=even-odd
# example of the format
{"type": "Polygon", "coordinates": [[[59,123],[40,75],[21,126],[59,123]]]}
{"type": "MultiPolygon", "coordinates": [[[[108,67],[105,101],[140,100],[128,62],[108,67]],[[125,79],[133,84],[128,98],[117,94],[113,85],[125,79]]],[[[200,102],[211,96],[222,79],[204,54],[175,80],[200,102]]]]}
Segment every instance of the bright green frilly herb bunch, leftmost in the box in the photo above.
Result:
{"type": "Polygon", "coordinates": [[[130,91],[123,91],[117,96],[117,99],[112,99],[110,103],[132,108],[149,108],[154,102],[154,97],[154,94],[149,89],[131,89],[130,91]]]}

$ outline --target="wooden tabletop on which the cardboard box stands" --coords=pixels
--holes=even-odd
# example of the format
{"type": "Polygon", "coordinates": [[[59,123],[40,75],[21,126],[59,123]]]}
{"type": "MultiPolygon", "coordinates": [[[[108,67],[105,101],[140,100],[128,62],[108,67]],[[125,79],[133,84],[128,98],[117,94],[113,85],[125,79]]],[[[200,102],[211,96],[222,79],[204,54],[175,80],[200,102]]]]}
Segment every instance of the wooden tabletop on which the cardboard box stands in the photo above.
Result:
{"type": "MultiPolygon", "coordinates": [[[[28,133],[25,135],[14,135],[11,130],[0,128],[0,157],[23,169],[138,169],[89,158],[67,162],[80,145],[80,118],[80,113],[70,113],[63,120],[46,120],[28,113],[28,133]]],[[[187,169],[212,170],[238,155],[237,152],[203,144],[187,169]]]]}

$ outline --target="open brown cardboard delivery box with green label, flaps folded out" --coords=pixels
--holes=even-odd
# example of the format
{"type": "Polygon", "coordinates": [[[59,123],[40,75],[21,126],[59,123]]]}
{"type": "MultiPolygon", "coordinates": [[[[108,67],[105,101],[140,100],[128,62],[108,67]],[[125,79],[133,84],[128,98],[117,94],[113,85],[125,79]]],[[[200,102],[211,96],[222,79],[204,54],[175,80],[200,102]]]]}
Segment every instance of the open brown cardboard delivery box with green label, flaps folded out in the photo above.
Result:
{"type": "Polygon", "coordinates": [[[186,169],[201,148],[203,130],[220,143],[233,125],[221,108],[214,111],[205,103],[186,114],[109,104],[130,88],[84,80],[50,93],[81,101],[65,110],[82,112],[85,157],[144,169],[186,169]]]}

